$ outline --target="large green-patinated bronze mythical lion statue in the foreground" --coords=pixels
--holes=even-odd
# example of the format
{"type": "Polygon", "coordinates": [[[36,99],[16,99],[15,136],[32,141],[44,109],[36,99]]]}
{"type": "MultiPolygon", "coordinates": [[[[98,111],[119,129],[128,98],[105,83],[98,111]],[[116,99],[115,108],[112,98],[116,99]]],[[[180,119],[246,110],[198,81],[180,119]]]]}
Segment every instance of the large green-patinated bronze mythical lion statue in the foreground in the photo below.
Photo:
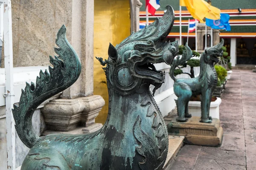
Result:
{"type": "Polygon", "coordinates": [[[165,79],[154,63],[171,64],[177,42],[161,42],[171,31],[174,11],[150,26],[132,33],[119,45],[109,45],[108,60],[97,57],[107,77],[109,111],[105,125],[94,133],[51,134],[38,137],[32,130],[32,114],[41,102],[63,91],[79,77],[81,65],[67,42],[65,27],[57,35],[50,59],[50,74],[40,73],[36,85],[27,84],[13,114],[17,133],[31,148],[22,170],[160,170],[168,152],[168,132],[149,85],[154,91],[165,79]],[[68,83],[70,82],[70,83],[68,83]]]}

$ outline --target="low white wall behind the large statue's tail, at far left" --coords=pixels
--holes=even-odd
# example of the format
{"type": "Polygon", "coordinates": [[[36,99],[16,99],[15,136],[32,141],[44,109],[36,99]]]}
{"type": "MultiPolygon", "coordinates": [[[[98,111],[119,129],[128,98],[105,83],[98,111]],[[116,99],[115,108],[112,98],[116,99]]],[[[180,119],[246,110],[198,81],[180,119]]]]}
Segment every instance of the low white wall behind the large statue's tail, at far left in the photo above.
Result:
{"type": "MultiPolygon", "coordinates": [[[[46,66],[29,66],[29,67],[15,67],[13,69],[14,77],[14,102],[18,103],[20,101],[21,88],[25,88],[26,82],[35,82],[36,77],[39,76],[40,70],[48,69],[46,66]]],[[[0,68],[0,170],[7,170],[7,148],[6,148],[6,107],[5,107],[5,98],[3,93],[5,92],[5,69],[0,68]]],[[[50,99],[58,98],[53,96],[50,99]]],[[[32,125],[35,132],[40,136],[42,131],[46,129],[44,123],[44,117],[40,111],[40,108],[49,102],[48,99],[46,102],[42,103],[38,109],[35,110],[35,113],[32,117],[32,125]]],[[[26,154],[29,152],[29,148],[26,147],[17,136],[15,130],[15,154],[16,154],[16,167],[19,167],[26,154]]]]}

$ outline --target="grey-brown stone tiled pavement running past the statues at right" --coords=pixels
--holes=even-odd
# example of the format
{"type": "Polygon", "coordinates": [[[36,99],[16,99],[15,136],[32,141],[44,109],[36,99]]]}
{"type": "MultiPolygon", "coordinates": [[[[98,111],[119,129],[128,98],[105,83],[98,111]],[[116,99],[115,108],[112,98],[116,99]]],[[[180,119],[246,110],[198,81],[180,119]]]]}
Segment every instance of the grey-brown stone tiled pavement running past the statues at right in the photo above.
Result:
{"type": "Polygon", "coordinates": [[[185,145],[170,170],[256,170],[256,73],[234,70],[221,99],[221,147],[185,145]]]}

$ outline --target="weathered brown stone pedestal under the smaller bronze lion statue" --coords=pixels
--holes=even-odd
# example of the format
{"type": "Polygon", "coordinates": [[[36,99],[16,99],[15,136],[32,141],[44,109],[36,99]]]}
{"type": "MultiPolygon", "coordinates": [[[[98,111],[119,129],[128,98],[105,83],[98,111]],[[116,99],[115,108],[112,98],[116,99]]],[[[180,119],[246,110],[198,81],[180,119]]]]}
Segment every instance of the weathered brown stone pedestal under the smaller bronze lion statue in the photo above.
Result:
{"type": "Polygon", "coordinates": [[[200,120],[201,117],[192,116],[187,122],[177,122],[175,118],[168,124],[168,132],[170,135],[185,136],[187,144],[219,147],[223,136],[220,120],[213,118],[209,124],[200,120]]]}

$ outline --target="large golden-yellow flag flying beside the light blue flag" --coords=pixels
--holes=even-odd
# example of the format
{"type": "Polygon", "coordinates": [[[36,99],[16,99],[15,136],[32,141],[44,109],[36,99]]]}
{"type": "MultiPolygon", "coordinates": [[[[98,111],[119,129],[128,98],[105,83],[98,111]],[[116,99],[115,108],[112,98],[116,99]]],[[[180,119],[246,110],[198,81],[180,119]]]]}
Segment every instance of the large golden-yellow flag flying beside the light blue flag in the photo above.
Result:
{"type": "Polygon", "coordinates": [[[211,20],[218,20],[221,17],[221,10],[204,0],[180,0],[180,6],[186,6],[192,17],[201,23],[204,23],[204,17],[211,20]]]}

